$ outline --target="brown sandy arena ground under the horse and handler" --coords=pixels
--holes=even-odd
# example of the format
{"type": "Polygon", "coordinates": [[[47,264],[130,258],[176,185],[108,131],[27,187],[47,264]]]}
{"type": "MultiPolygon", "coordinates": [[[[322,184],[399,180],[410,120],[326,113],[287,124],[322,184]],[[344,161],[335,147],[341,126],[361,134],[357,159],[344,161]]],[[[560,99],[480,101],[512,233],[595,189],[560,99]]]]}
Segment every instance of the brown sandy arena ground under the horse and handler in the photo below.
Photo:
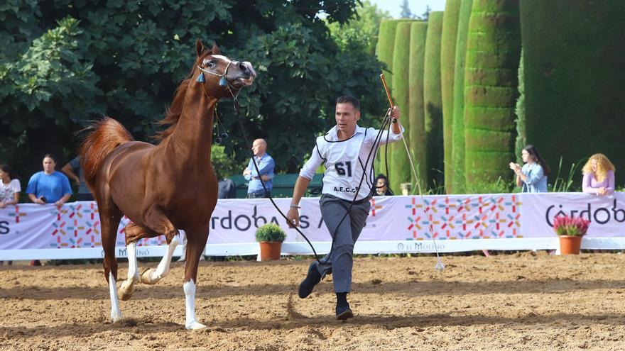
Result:
{"type": "Polygon", "coordinates": [[[335,321],[330,279],[298,298],[310,261],[201,262],[200,331],[184,330],[180,263],[121,301],[116,324],[101,266],[3,266],[0,349],[625,349],[625,255],[443,259],[439,274],[433,257],[357,258],[346,322],[335,321]]]}

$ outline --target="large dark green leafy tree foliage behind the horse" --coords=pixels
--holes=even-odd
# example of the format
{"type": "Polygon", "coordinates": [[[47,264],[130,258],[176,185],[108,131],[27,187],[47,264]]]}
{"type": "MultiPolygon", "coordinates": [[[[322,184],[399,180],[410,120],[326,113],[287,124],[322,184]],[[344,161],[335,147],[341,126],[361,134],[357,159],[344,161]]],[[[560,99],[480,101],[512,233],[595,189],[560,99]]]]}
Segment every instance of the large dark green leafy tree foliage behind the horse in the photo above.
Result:
{"type": "MultiPolygon", "coordinates": [[[[384,111],[379,62],[354,50],[356,39],[337,45],[326,26],[353,18],[356,2],[4,1],[0,162],[29,173],[45,152],[67,160],[80,141],[73,133],[102,115],[149,140],[200,38],[252,62],[259,78],[239,97],[244,130],[249,143],[266,138],[278,170],[293,172],[315,135],[332,126],[337,96],[362,99],[365,116],[384,111]]],[[[248,150],[232,103],[218,110],[227,153],[248,150]]]]}

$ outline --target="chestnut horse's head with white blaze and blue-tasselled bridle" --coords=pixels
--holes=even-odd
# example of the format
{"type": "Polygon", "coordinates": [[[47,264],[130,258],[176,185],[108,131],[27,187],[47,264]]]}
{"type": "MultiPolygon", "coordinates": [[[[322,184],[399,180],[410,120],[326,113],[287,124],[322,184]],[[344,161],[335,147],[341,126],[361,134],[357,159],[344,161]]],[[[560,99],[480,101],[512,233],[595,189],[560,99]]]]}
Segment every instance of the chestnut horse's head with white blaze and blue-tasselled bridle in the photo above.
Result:
{"type": "Polygon", "coordinates": [[[256,71],[251,63],[233,61],[221,55],[217,44],[207,49],[200,40],[195,42],[196,82],[204,84],[206,94],[215,98],[235,97],[239,90],[248,87],[256,78],[256,71]]]}

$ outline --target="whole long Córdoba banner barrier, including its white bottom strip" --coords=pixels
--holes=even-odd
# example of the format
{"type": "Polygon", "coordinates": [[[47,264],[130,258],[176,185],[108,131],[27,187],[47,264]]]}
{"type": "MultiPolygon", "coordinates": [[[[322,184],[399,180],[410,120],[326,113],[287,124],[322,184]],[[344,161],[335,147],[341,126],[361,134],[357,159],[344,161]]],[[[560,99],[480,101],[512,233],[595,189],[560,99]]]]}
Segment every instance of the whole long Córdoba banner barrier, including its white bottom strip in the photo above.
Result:
{"type": "MultiPolygon", "coordinates": [[[[276,199],[283,211],[290,199],[276,199]]],[[[318,198],[301,201],[301,230],[318,253],[330,249],[318,198]]],[[[388,196],[371,199],[371,213],[354,248],[357,253],[455,252],[556,248],[550,227],[558,213],[591,221],[585,248],[625,247],[625,194],[580,193],[388,196]]],[[[124,256],[122,219],[117,255],[124,256]]],[[[256,228],[267,222],[286,230],[285,254],[310,254],[297,231],[287,228],[266,199],[219,200],[212,214],[207,255],[252,255],[256,228]]],[[[102,257],[99,215],[92,201],[19,204],[0,209],[0,260],[102,257]]],[[[140,240],[138,256],[163,255],[163,236],[140,240]]],[[[178,252],[177,252],[178,254],[178,252]]]]}

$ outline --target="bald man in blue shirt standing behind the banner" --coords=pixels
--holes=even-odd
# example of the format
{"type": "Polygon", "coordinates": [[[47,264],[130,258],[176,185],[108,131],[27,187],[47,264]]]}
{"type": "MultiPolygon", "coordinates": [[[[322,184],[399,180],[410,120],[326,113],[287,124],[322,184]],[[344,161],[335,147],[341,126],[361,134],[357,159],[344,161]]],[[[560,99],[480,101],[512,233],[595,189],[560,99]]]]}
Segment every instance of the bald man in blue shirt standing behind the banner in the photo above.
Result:
{"type": "Polygon", "coordinates": [[[267,153],[267,142],[264,139],[256,139],[254,144],[252,144],[251,150],[254,152],[254,160],[256,160],[256,165],[259,167],[259,172],[256,172],[254,161],[250,159],[247,168],[243,171],[245,179],[249,181],[247,198],[260,199],[269,197],[271,189],[273,189],[273,167],[275,167],[275,163],[273,158],[267,153]],[[268,192],[263,189],[261,179],[265,183],[268,192]]]}

